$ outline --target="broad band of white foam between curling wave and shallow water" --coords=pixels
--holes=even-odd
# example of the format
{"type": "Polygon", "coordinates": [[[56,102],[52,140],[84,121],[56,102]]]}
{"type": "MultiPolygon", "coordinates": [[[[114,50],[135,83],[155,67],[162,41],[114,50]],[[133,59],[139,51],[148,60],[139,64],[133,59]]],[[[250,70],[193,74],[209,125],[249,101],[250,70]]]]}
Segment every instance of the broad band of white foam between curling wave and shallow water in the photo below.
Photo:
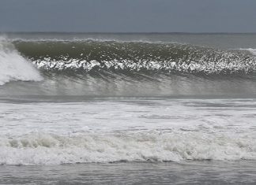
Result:
{"type": "Polygon", "coordinates": [[[256,160],[254,99],[0,102],[0,164],[256,160]]]}

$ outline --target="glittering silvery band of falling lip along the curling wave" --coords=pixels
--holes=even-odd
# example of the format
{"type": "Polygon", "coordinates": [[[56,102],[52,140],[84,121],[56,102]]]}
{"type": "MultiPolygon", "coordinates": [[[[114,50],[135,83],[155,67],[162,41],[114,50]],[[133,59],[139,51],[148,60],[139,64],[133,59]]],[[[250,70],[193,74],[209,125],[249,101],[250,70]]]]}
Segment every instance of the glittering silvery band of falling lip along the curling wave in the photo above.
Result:
{"type": "Polygon", "coordinates": [[[38,68],[50,71],[85,71],[94,72],[100,70],[109,70],[114,72],[186,72],[186,73],[203,73],[203,74],[247,74],[256,70],[254,61],[225,61],[202,62],[196,61],[176,62],[176,61],[134,61],[114,60],[114,61],[52,61],[44,59],[43,61],[33,61],[38,68]]]}

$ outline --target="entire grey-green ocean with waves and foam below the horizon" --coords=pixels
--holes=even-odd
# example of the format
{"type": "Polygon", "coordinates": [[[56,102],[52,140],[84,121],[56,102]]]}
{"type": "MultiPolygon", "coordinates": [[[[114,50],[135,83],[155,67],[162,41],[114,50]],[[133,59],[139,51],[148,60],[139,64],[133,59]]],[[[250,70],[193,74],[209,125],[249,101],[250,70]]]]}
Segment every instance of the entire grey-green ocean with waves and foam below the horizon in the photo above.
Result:
{"type": "Polygon", "coordinates": [[[6,33],[0,183],[255,183],[256,34],[6,33]]]}

